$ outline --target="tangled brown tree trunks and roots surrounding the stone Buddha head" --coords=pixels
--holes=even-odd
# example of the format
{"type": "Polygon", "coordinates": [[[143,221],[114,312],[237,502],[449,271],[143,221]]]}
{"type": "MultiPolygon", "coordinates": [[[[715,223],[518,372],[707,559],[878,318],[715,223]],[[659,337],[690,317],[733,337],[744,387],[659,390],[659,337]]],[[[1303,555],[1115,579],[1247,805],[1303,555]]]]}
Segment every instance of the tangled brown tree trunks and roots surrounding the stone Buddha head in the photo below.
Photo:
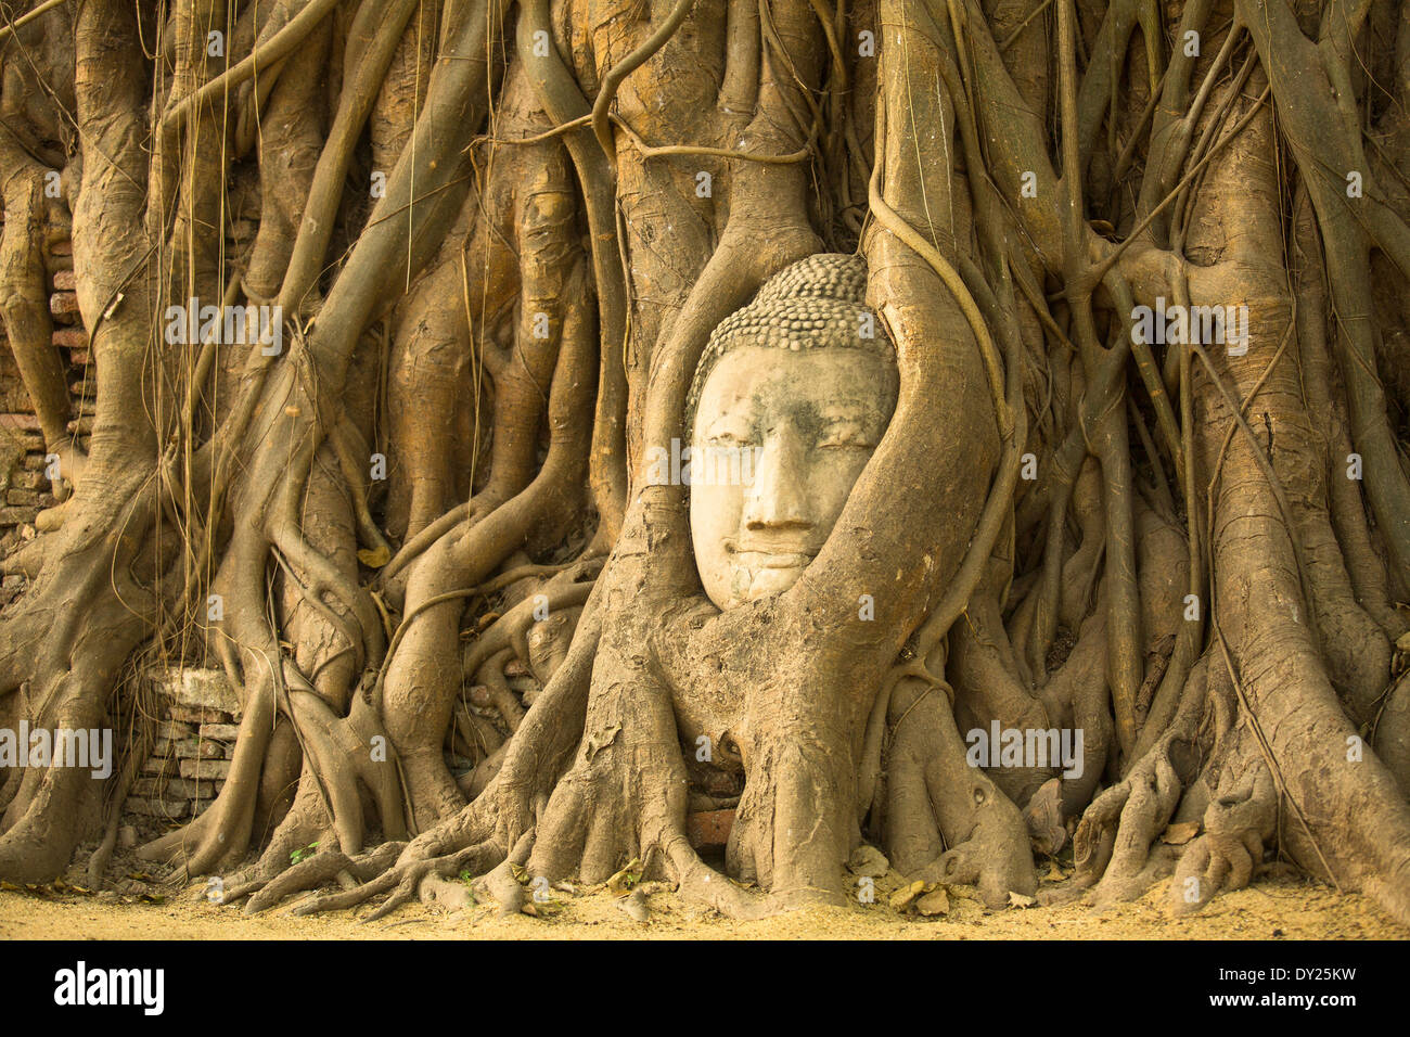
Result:
{"type": "MultiPolygon", "coordinates": [[[[70,7],[0,41],[0,309],[72,491],[0,563],[0,720],[223,666],[230,779],[145,856],[247,910],[627,868],[754,916],[856,896],[863,841],[1003,906],[1070,839],[1094,903],[1282,855],[1410,923],[1410,3],[70,7]],[[649,457],[816,253],[866,258],[898,402],[802,578],[722,612],[649,457]],[[281,348],[166,341],[192,298],[281,348]],[[991,729],[1081,766],[974,766],[991,729]]],[[[0,878],[123,794],[0,770],[0,878]]]]}

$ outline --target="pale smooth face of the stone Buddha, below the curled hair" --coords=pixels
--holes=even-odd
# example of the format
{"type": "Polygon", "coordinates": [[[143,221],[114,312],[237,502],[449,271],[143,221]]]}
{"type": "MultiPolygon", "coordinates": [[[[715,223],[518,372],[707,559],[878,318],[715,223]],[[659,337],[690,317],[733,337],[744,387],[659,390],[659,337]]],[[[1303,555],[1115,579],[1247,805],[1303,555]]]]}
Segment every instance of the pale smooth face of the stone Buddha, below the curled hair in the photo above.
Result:
{"type": "Polygon", "coordinates": [[[863,348],[740,346],[716,361],[692,429],[691,539],[719,608],[802,576],[881,442],[897,382],[863,348]]]}

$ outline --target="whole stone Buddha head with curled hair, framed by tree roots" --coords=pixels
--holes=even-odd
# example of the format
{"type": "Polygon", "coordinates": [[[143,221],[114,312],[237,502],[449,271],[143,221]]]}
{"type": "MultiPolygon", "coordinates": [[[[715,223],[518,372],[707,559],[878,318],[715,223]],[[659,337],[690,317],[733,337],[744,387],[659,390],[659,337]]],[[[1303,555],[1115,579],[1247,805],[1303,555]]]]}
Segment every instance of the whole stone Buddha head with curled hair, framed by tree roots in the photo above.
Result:
{"type": "Polygon", "coordinates": [[[866,284],[860,255],[811,255],[711,334],[685,420],[695,564],[722,610],[797,583],[891,420],[900,377],[866,284]]]}

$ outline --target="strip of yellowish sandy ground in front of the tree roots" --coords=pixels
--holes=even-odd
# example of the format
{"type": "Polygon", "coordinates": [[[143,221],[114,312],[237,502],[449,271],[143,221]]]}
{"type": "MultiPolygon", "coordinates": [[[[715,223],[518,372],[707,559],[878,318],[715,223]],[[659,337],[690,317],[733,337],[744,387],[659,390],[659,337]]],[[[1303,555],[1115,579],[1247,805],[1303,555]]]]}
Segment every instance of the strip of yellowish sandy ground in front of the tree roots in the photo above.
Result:
{"type": "MultiPolygon", "coordinates": [[[[1045,883],[1059,889],[1063,883],[1045,883]]],[[[155,887],[152,887],[155,889],[155,887]]],[[[880,883],[878,883],[880,892],[880,883]]],[[[454,914],[433,914],[422,904],[362,924],[355,913],[292,917],[288,907],[247,917],[238,907],[200,903],[190,893],[162,897],[92,895],[54,889],[0,890],[0,940],[1355,940],[1410,938],[1362,896],[1290,876],[1265,878],[1249,889],[1217,897],[1193,917],[1175,917],[1166,883],[1135,903],[1097,910],[1079,903],[987,911],[950,890],[943,917],[898,913],[888,896],[878,903],[795,911],[739,923],[685,907],[670,892],[650,897],[651,914],[640,923],[620,910],[608,892],[554,892],[554,917],[499,917],[494,904],[454,914]]]]}

